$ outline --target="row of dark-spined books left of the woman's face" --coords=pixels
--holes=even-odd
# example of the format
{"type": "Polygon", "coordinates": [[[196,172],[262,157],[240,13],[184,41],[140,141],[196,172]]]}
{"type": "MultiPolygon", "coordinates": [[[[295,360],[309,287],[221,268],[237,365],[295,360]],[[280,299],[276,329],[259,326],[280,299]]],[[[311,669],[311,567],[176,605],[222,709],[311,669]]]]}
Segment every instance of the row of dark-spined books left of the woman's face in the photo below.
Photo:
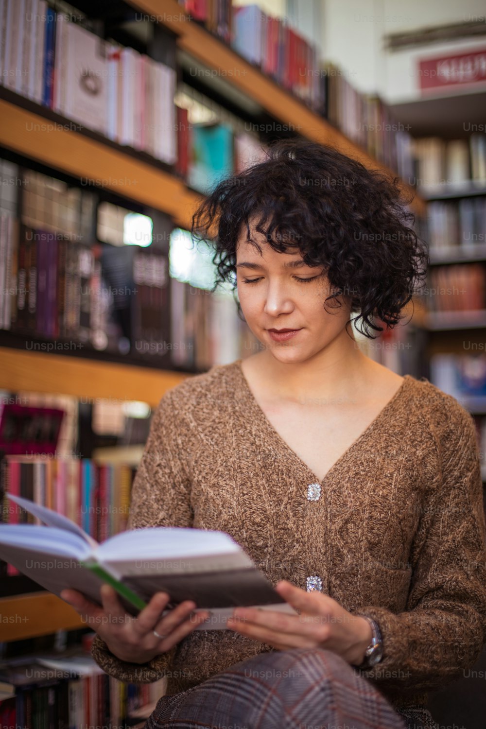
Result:
{"type": "Polygon", "coordinates": [[[230,293],[172,278],[168,254],[152,246],[89,246],[4,216],[0,255],[0,328],[33,338],[30,349],[205,370],[259,346],[230,293]]]}

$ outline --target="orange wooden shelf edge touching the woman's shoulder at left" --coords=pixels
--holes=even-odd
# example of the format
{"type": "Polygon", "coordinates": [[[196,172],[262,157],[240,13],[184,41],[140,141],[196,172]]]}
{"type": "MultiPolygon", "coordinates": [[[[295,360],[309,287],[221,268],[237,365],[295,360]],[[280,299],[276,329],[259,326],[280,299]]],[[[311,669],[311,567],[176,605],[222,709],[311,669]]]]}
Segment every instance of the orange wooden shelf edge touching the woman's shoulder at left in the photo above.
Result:
{"type": "Polygon", "coordinates": [[[141,400],[152,407],[158,405],[166,390],[191,376],[7,347],[0,347],[0,361],[0,387],[7,390],[58,392],[89,399],[141,400]]]}

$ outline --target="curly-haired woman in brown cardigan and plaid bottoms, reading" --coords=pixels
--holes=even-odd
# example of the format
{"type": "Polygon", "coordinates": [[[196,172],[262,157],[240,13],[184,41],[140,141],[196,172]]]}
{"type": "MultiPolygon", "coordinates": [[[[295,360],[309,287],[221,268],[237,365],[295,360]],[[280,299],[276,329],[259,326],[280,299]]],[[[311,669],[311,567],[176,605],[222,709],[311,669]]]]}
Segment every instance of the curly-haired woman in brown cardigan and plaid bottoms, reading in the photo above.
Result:
{"type": "Polygon", "coordinates": [[[192,233],[213,239],[262,347],[164,394],[128,527],[227,531],[298,615],[238,609],[195,631],[194,602],[161,618],[159,593],[134,620],[108,586],[103,609],[68,591],[95,660],[168,677],[149,729],[436,727],[428,690],[485,640],[485,516],[471,415],[364,356],[349,327],[396,325],[426,273],[396,182],[278,141],[192,233]]]}

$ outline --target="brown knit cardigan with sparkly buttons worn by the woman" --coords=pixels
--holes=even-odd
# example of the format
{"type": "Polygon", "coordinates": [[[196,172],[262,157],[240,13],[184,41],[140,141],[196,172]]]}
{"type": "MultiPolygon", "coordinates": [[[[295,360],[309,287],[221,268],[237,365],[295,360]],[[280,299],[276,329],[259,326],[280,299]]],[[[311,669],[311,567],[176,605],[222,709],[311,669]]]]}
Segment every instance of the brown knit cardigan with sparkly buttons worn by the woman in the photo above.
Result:
{"type": "MultiPolygon", "coordinates": [[[[133,482],[128,529],[226,531],[276,585],[322,590],[377,620],[383,660],[360,673],[393,706],[425,706],[486,641],[486,545],[474,420],[426,378],[405,375],[307,499],[315,474],[281,438],[238,359],[163,395],[133,482]]],[[[323,433],[323,438],[326,433],[323,433]]],[[[93,657],[122,681],[164,675],[168,695],[258,652],[232,631],[193,631],[149,663],[100,638],[93,657]]],[[[356,669],[357,670],[357,669],[356,669]]]]}

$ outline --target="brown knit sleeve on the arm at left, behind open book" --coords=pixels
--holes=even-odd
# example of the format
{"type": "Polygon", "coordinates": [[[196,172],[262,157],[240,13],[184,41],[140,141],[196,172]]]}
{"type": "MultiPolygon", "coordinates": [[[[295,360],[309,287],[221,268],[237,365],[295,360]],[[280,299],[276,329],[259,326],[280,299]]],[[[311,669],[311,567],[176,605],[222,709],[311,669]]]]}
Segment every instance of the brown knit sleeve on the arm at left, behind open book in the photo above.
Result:
{"type": "MultiPolygon", "coordinates": [[[[192,526],[190,479],[181,447],[183,432],[173,391],[167,391],[152,417],[149,437],[133,480],[127,529],[192,526]]],[[[130,683],[152,683],[164,677],[178,644],[148,663],[119,660],[98,634],[91,655],[110,676],[130,683]]]]}

